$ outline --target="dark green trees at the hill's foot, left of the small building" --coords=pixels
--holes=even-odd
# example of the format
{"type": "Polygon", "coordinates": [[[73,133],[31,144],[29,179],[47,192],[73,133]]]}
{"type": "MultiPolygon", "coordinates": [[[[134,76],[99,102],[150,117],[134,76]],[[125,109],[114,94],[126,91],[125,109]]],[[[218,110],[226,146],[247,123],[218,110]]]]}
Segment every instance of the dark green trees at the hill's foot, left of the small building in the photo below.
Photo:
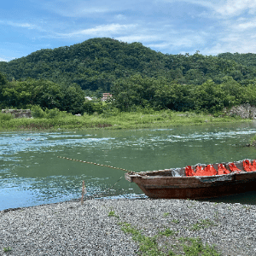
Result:
{"type": "Polygon", "coordinates": [[[11,81],[3,88],[2,95],[5,108],[26,108],[29,104],[44,109],[83,113],[84,92],[77,84],[55,84],[43,79],[11,81]]]}

